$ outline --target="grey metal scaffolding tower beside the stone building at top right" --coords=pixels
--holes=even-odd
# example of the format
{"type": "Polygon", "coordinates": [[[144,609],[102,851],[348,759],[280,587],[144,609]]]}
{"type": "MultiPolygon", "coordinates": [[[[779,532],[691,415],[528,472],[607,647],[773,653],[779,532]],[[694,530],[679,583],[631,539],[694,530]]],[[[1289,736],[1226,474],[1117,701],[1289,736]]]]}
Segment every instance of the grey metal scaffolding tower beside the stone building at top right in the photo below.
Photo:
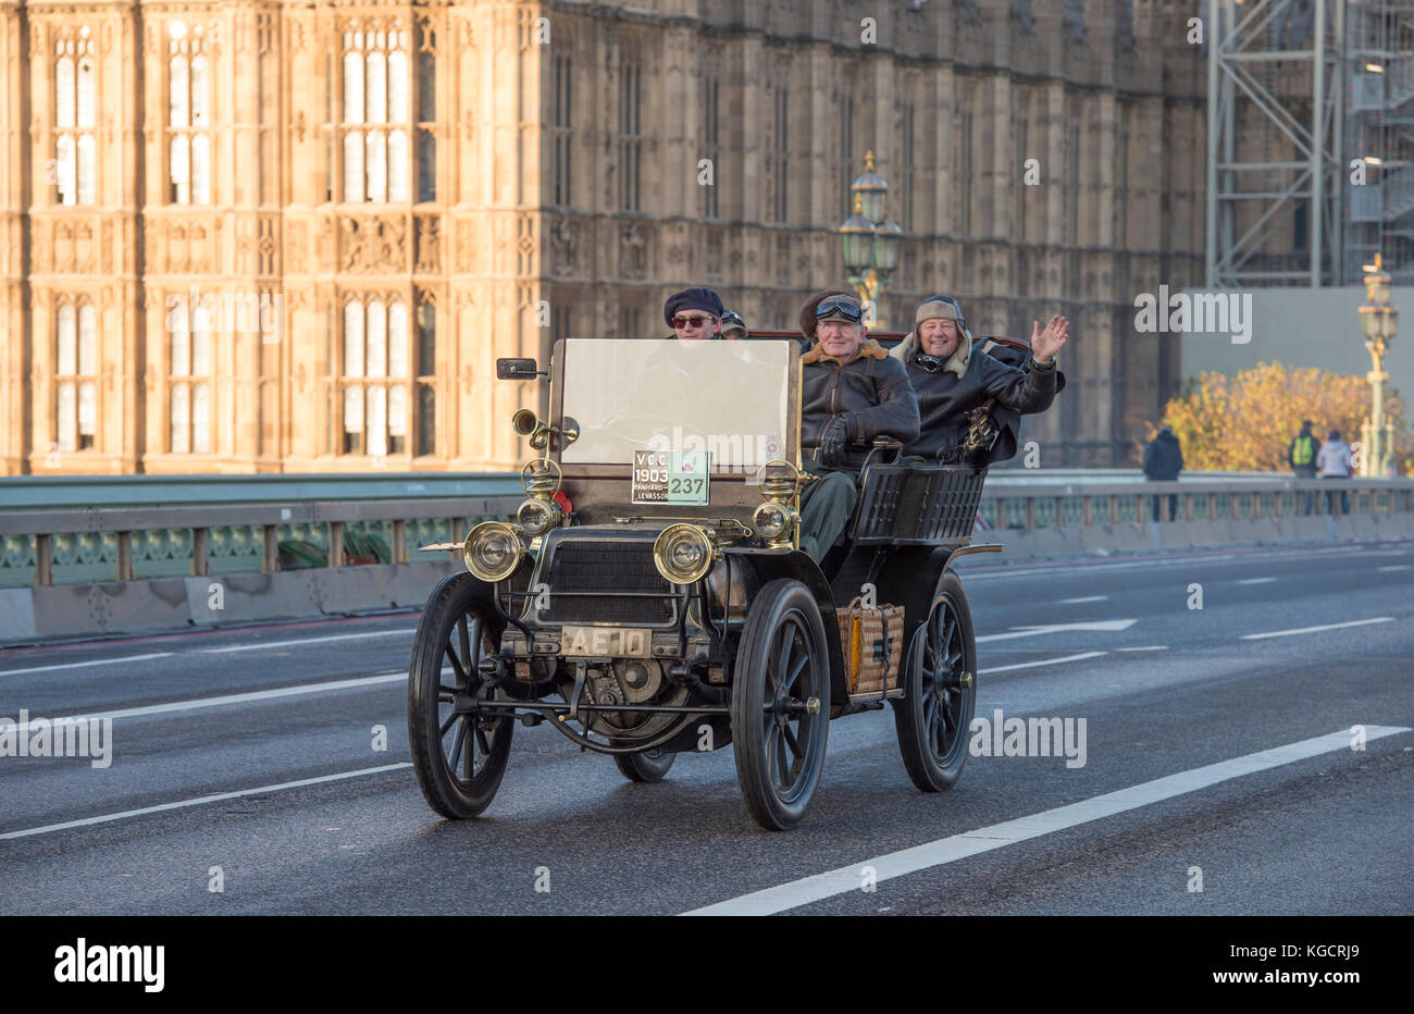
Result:
{"type": "Polygon", "coordinates": [[[1414,281],[1414,0],[1212,0],[1208,286],[1414,281]]]}

